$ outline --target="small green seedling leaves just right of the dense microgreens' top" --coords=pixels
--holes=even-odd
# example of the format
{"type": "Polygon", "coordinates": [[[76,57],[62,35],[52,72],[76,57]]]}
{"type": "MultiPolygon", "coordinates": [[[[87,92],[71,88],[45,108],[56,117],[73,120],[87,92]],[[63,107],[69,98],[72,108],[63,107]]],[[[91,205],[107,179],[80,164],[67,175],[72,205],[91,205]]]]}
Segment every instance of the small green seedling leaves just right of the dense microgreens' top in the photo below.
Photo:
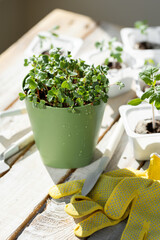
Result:
{"type": "Polygon", "coordinates": [[[101,42],[96,42],[95,43],[95,47],[98,48],[100,51],[103,50],[109,50],[109,57],[105,59],[105,64],[108,65],[108,63],[110,61],[115,61],[122,63],[122,52],[123,52],[123,48],[122,46],[117,46],[115,45],[116,42],[116,38],[112,38],[107,44],[105,43],[105,41],[101,41],[101,42]]]}

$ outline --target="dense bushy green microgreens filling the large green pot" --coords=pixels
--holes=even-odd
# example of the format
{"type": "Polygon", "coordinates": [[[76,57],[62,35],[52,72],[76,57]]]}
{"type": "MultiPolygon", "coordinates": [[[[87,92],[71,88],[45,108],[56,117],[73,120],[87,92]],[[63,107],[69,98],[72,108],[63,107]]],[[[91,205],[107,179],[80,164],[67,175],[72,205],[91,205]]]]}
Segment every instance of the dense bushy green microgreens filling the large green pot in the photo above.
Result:
{"type": "Polygon", "coordinates": [[[60,48],[49,53],[25,59],[24,65],[33,68],[23,81],[20,100],[27,97],[38,108],[67,107],[73,112],[78,106],[107,102],[107,66],[87,65],[81,59],[72,59],[70,52],[63,56],[60,48]]]}

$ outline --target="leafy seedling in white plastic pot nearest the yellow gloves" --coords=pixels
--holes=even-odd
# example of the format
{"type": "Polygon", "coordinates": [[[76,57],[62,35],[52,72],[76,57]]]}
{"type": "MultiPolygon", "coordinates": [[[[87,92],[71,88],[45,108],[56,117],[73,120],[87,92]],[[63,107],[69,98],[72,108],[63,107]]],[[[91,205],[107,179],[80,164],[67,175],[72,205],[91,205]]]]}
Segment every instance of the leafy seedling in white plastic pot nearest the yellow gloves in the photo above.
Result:
{"type": "Polygon", "coordinates": [[[127,134],[133,141],[134,154],[137,160],[149,160],[153,152],[160,153],[160,80],[159,68],[147,66],[139,73],[140,78],[149,86],[141,96],[121,106],[120,114],[127,134]],[[148,104],[142,104],[147,102],[148,104]]]}

